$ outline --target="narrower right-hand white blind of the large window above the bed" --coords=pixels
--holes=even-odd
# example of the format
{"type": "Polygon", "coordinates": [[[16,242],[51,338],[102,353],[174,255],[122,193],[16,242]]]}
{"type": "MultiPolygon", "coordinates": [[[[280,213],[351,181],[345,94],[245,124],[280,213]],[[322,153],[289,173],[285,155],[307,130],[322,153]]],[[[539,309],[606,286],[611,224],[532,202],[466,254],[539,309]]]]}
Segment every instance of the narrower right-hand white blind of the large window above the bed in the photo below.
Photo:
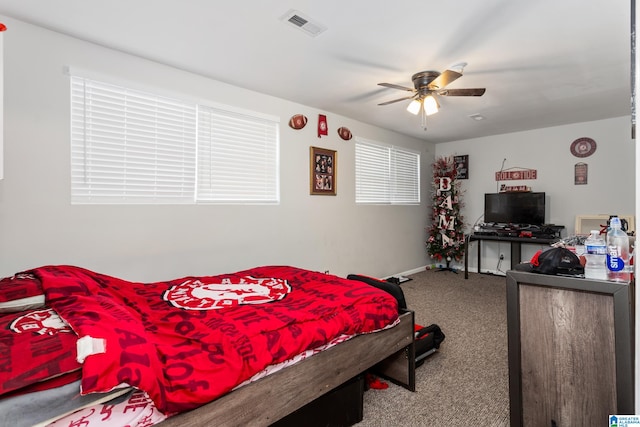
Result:
{"type": "Polygon", "coordinates": [[[200,106],[199,202],[278,203],[278,122],[200,106]]]}

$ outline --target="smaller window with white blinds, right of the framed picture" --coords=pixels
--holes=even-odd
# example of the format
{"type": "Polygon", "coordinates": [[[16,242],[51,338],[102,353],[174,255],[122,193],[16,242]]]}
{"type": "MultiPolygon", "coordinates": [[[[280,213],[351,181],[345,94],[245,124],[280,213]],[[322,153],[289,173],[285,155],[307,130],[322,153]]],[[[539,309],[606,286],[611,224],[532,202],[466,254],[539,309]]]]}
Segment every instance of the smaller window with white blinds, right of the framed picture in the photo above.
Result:
{"type": "Polygon", "coordinates": [[[420,203],[420,153],[362,139],[355,149],[356,203],[420,203]]]}

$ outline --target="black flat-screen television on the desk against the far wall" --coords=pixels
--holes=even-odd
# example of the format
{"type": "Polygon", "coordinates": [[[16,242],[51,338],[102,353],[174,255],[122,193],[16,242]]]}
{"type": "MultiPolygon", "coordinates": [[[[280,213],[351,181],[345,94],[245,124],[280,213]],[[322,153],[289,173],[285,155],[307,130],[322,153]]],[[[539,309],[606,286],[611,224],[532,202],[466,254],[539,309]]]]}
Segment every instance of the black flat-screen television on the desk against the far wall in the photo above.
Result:
{"type": "Polygon", "coordinates": [[[545,224],[545,193],[514,192],[484,195],[484,222],[545,224]]]}

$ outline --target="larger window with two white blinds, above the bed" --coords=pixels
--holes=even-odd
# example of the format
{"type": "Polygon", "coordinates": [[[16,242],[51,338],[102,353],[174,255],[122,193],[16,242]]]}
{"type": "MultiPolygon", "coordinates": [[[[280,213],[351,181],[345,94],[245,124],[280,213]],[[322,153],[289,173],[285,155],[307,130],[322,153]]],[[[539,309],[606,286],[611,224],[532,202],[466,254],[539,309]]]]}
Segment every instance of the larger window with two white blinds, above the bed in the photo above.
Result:
{"type": "Polygon", "coordinates": [[[278,122],[71,77],[73,203],[277,203],[278,122]]]}

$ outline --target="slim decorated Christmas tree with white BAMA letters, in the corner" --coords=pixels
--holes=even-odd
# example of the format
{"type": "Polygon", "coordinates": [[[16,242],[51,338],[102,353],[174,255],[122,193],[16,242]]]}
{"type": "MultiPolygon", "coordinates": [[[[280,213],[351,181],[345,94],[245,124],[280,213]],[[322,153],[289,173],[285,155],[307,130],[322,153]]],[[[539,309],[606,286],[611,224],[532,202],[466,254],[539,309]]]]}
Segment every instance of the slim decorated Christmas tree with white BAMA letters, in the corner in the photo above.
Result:
{"type": "Polygon", "coordinates": [[[431,258],[449,263],[464,257],[464,221],[460,181],[453,157],[441,157],[433,164],[433,208],[427,251],[431,258]]]}

